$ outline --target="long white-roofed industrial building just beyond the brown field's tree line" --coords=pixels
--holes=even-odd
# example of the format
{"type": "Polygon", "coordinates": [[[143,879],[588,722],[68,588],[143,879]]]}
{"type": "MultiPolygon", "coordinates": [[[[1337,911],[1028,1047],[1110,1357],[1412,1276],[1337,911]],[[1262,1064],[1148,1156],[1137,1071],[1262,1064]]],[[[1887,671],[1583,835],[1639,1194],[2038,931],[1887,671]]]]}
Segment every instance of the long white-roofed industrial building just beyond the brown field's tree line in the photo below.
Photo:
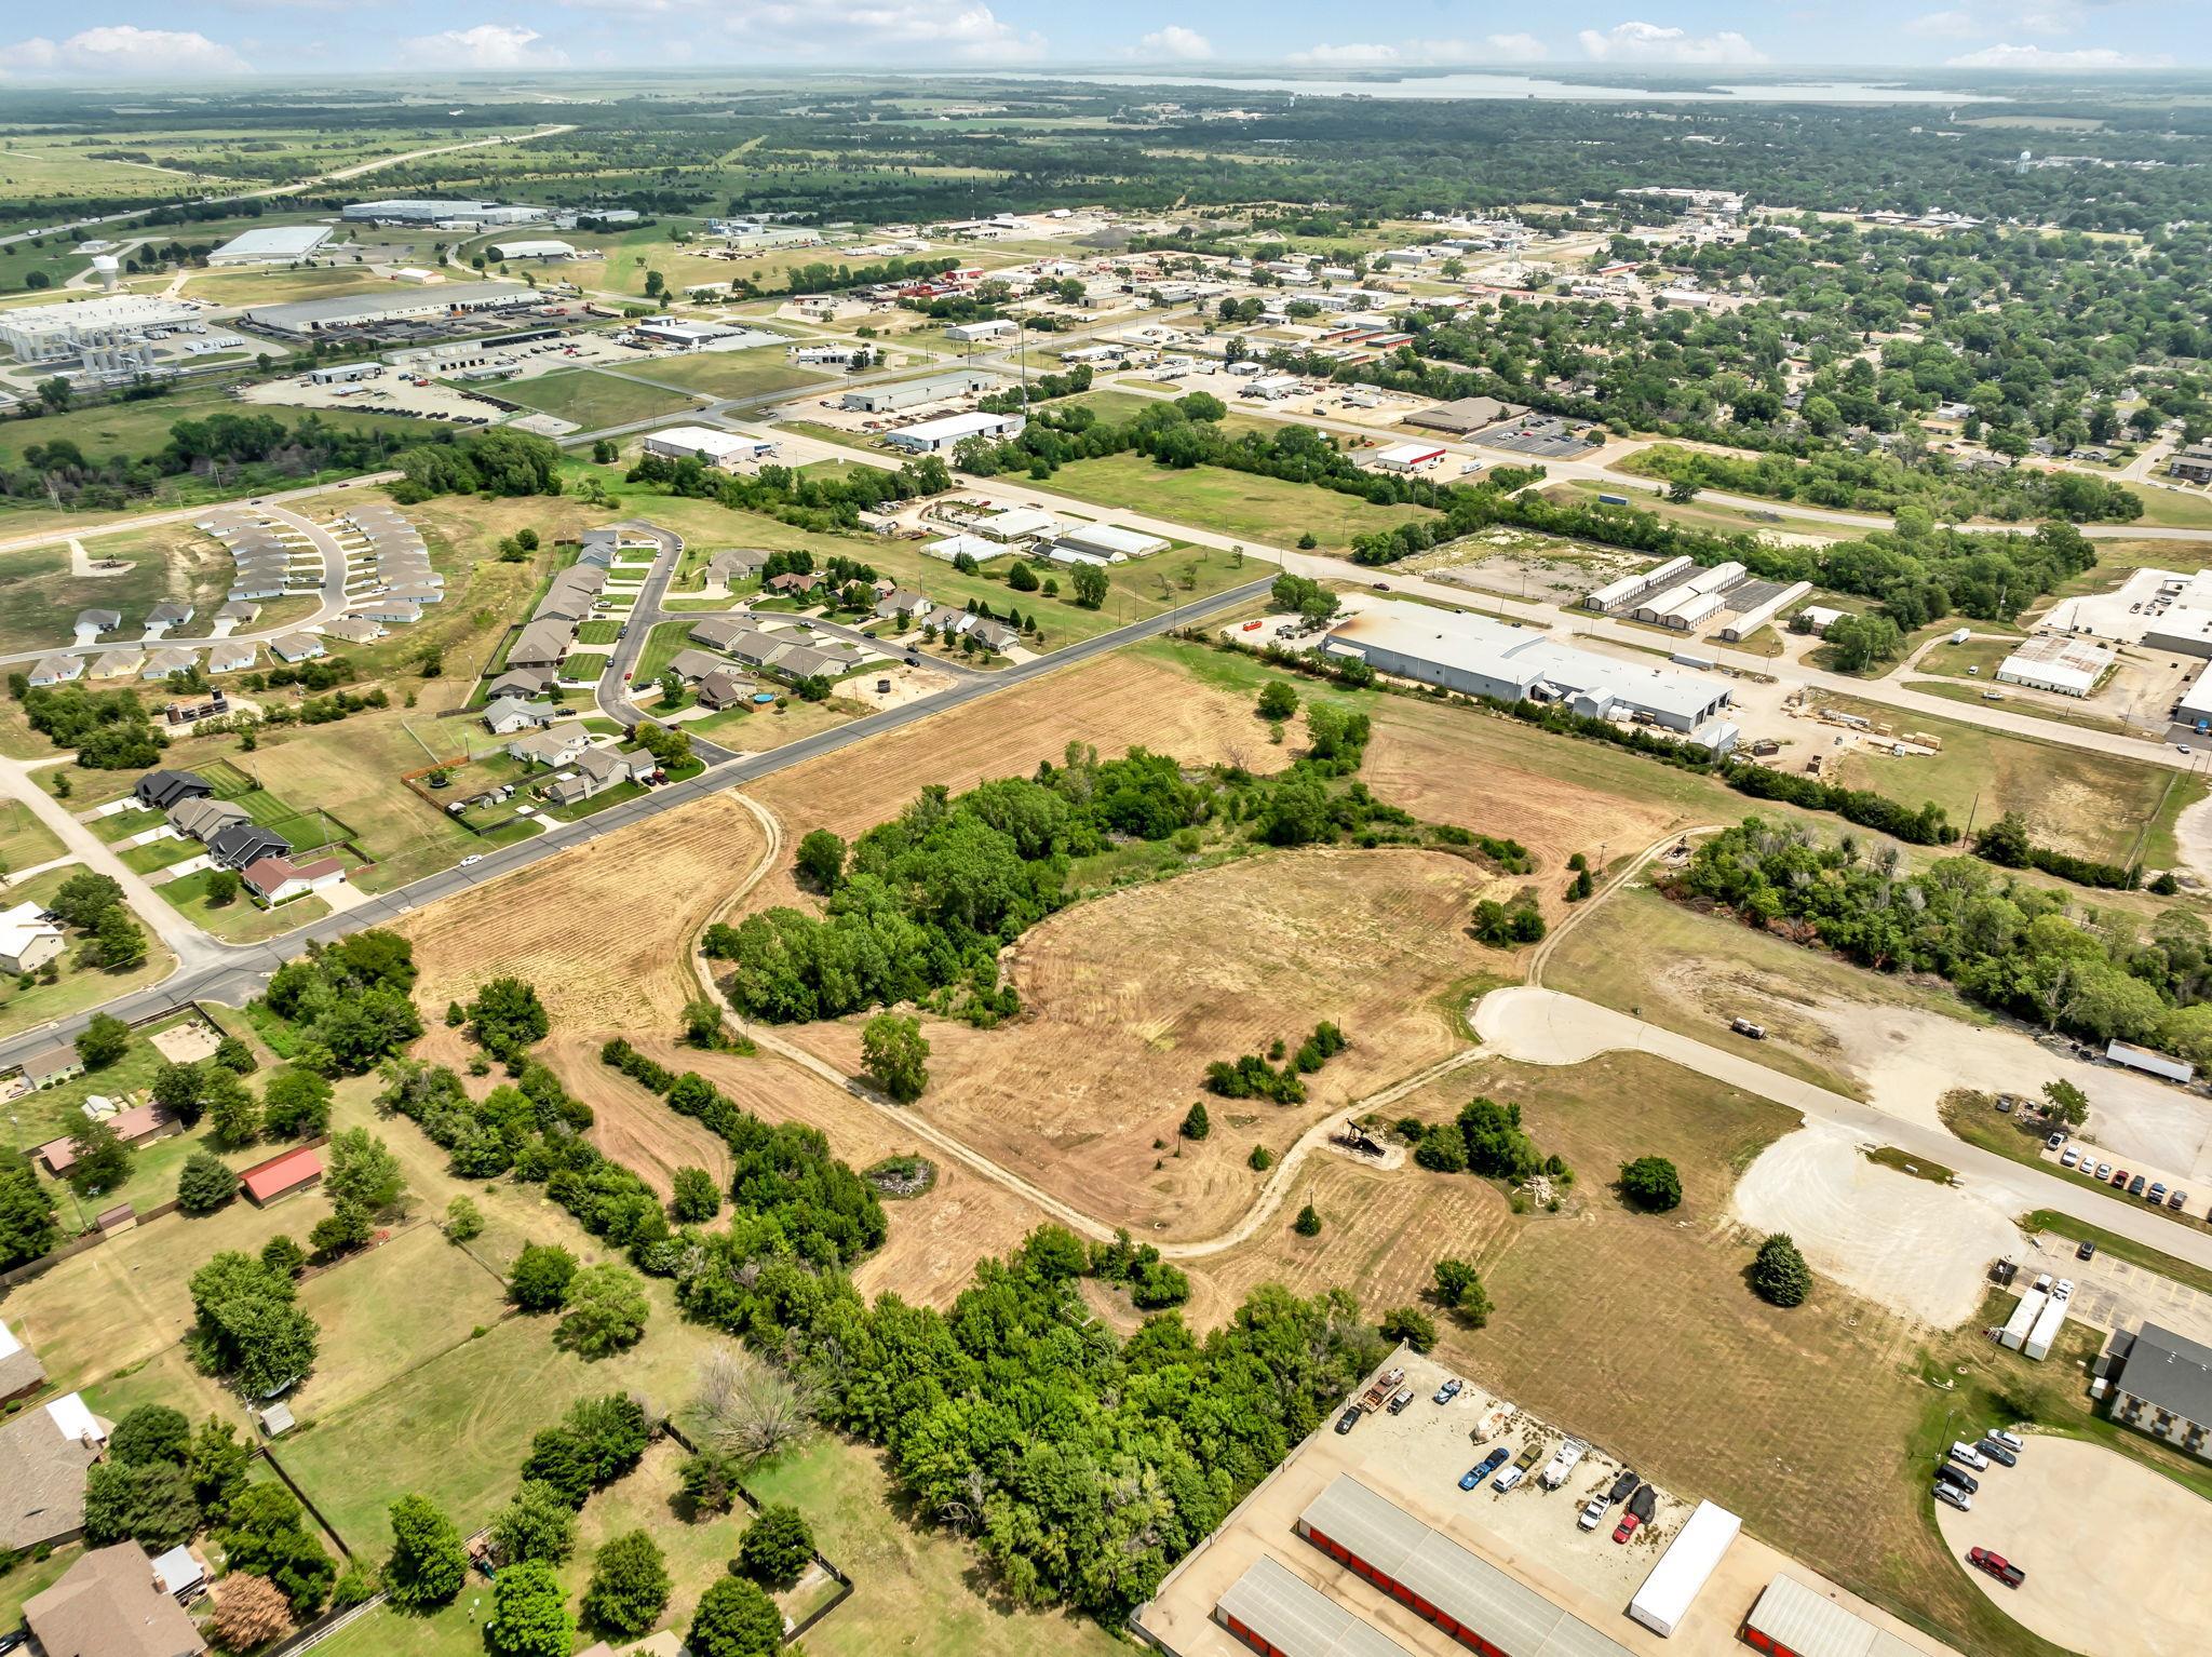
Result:
{"type": "Polygon", "coordinates": [[[1566,701],[1593,719],[1644,717],[1697,732],[1728,706],[1728,686],[1639,661],[1621,661],[1486,615],[1380,602],[1323,642],[1376,673],[1498,701],[1566,701]]]}

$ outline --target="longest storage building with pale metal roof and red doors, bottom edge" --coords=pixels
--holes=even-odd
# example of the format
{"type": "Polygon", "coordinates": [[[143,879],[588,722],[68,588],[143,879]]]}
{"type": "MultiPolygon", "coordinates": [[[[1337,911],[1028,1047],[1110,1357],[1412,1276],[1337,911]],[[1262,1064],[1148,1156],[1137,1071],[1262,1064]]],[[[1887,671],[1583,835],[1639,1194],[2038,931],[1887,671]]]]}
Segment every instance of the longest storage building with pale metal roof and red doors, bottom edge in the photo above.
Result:
{"type": "Polygon", "coordinates": [[[1298,1515],[1298,1535],[1444,1633],[1464,1628],[1504,1657],[1630,1657],[1628,1648],[1402,1507],[1338,1473],[1298,1515]]]}

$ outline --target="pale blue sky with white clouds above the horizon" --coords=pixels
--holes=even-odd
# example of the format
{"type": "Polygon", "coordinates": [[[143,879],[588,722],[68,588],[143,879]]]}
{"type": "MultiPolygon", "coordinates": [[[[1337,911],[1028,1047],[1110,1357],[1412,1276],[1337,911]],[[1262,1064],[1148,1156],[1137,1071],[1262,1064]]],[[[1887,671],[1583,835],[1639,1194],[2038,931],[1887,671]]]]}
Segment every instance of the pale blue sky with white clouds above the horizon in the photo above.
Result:
{"type": "Polygon", "coordinates": [[[9,7],[0,84],[615,66],[2135,69],[2212,60],[2212,0],[119,0],[9,7]],[[73,27],[82,20],[82,27],[73,27]],[[33,29],[31,24],[38,24],[33,29]]]}

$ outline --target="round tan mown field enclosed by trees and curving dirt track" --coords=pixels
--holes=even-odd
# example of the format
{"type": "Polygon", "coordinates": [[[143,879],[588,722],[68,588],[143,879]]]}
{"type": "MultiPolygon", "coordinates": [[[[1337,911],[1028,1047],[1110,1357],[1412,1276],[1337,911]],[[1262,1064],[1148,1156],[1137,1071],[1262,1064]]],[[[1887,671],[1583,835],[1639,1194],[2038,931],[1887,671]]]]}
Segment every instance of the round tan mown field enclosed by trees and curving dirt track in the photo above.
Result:
{"type": "MultiPolygon", "coordinates": [[[[1281,1153],[1460,1046],[1438,996],[1495,960],[1467,911],[1506,889],[1442,852],[1294,852],[1077,905],[1009,951],[1020,1022],[929,1026],[916,1108],[1106,1223],[1210,1237],[1261,1188],[1252,1146],[1281,1153]],[[1212,1060],[1296,1046],[1321,1020],[1352,1049],[1307,1077],[1303,1106],[1208,1100],[1210,1137],[1177,1137],[1212,1060]]],[[[792,1035],[858,1071],[860,1020],[792,1035]]]]}

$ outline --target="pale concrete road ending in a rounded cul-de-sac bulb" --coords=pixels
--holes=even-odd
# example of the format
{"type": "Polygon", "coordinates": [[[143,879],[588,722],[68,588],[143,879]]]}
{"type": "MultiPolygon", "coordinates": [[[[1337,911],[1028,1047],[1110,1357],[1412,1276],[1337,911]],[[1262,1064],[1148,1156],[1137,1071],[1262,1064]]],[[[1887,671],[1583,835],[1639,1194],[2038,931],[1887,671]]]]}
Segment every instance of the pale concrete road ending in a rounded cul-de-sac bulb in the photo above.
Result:
{"type": "Polygon", "coordinates": [[[1812,1122],[1832,1122],[1865,1139],[1896,1146],[1953,1168],[1966,1190],[1995,1201],[2006,1215],[2055,1208],[2062,1215],[2119,1232],[2194,1265],[2212,1268],[2212,1234],[2177,1226],[2141,1203],[2124,1203],[2070,1179],[2053,1179],[1995,1150],[1955,1139],[1942,1128],[1876,1111],[1871,1104],[1801,1082],[1767,1064],[1690,1035],[1646,1024],[1610,1007],[1555,989],[1515,984],[1475,1002],[1475,1035],[1484,1049],[1522,1064],[1584,1064],[1599,1053],[1650,1053],[1697,1075],[1756,1093],[1812,1122]]]}

